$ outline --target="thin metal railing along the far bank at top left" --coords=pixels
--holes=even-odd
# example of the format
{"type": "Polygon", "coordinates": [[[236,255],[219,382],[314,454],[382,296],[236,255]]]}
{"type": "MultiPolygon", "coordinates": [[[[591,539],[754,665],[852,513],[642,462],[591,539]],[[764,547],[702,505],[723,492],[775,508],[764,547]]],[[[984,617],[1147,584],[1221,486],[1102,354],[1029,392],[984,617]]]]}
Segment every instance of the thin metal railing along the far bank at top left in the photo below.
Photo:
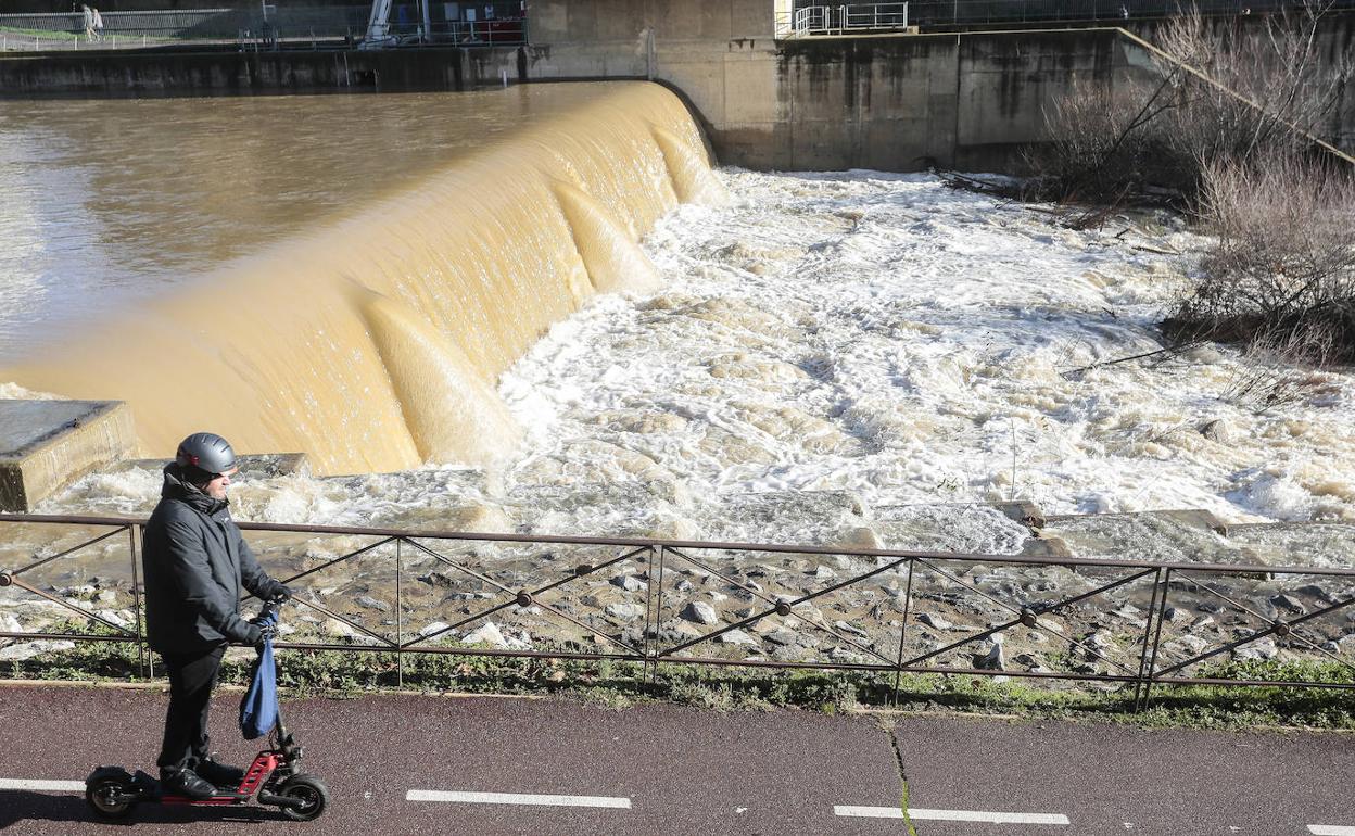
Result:
{"type": "MultiPolygon", "coordinates": [[[[352,46],[367,34],[370,5],[201,8],[102,12],[103,27],[87,30],[83,14],[0,15],[0,51],[145,49],[169,45],[241,47],[352,46]]],[[[421,20],[393,18],[386,46],[520,45],[527,22],[421,20]]]]}

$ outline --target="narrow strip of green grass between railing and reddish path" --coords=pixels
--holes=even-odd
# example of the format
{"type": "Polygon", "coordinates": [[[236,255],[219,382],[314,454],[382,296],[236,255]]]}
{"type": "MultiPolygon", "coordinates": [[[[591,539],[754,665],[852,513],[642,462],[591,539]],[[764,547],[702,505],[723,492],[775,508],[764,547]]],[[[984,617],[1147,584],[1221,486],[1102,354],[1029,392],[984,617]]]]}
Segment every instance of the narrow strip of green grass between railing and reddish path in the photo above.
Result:
{"type": "MultiPolygon", "coordinates": [[[[87,635],[106,634],[83,626],[87,635]]],[[[73,631],[62,627],[61,631],[73,631]]],[[[558,648],[566,652],[566,648],[558,648]]],[[[252,652],[233,650],[222,682],[244,684],[252,652]]],[[[1310,728],[1355,730],[1355,691],[1304,687],[1153,687],[1134,711],[1133,687],[1049,684],[970,675],[799,671],[664,664],[656,680],[640,663],[551,660],[457,653],[279,650],[278,683],[289,695],[355,696],[389,691],[550,695],[626,707],[672,702],[721,711],[799,707],[836,714],[854,710],[957,711],[1030,718],[1088,718],[1145,728],[1310,728]]],[[[1202,665],[1202,677],[1355,684],[1355,671],[1336,661],[1251,660],[1202,665]]],[[[0,661],[0,676],[70,682],[146,682],[137,646],[81,641],[27,660],[0,661]]]]}

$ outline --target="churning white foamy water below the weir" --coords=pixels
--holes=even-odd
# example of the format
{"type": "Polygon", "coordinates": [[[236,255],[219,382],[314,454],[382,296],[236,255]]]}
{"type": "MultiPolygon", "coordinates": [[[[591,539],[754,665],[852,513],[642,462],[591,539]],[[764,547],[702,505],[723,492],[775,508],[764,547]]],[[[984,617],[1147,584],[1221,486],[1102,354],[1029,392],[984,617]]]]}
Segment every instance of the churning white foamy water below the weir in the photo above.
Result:
{"type": "MultiPolygon", "coordinates": [[[[1228,397],[1247,364],[1226,348],[1070,374],[1160,347],[1202,245],[1177,221],[1070,232],[924,175],[721,177],[732,206],[646,240],[663,293],[599,298],[503,377],[515,461],[243,484],[240,516],[763,542],[1009,499],[1355,519],[1348,371],[1263,413],[1228,397]]],[[[42,511],[144,512],[157,492],[131,470],[42,511]]],[[[1016,547],[984,526],[967,549],[1016,547]]]]}

